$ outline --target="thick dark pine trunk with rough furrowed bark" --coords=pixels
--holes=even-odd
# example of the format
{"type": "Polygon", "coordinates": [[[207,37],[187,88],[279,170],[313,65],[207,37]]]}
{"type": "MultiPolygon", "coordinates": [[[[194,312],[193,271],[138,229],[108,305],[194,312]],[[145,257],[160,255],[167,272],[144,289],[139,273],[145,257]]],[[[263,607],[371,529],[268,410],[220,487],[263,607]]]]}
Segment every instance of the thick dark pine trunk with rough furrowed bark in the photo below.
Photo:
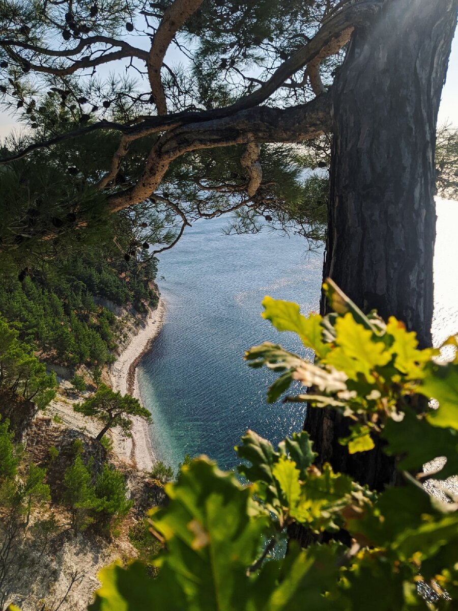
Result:
{"type": "MultiPolygon", "coordinates": [[[[363,310],[398,317],[431,344],[435,130],[458,0],[387,0],[354,32],[335,82],[324,277],[363,310]]],[[[327,305],[322,299],[321,309],[327,305]]],[[[321,461],[380,489],[394,478],[380,447],[350,456],[346,423],[309,409],[321,461]]]]}

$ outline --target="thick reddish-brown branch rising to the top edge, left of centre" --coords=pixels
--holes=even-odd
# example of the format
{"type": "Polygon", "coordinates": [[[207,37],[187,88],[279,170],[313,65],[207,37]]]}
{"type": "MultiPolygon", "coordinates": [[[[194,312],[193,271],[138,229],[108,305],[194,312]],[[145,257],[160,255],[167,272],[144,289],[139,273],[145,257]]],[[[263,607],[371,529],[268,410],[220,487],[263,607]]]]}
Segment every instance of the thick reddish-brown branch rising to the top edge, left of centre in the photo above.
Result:
{"type": "Polygon", "coordinates": [[[161,81],[161,67],[165,53],[176,32],[183,23],[202,4],[203,0],[175,0],[164,12],[162,21],[151,40],[151,49],[148,54],[147,67],[150,79],[151,93],[154,103],[158,109],[158,115],[167,114],[167,102],[165,101],[164,87],[161,81]]]}

